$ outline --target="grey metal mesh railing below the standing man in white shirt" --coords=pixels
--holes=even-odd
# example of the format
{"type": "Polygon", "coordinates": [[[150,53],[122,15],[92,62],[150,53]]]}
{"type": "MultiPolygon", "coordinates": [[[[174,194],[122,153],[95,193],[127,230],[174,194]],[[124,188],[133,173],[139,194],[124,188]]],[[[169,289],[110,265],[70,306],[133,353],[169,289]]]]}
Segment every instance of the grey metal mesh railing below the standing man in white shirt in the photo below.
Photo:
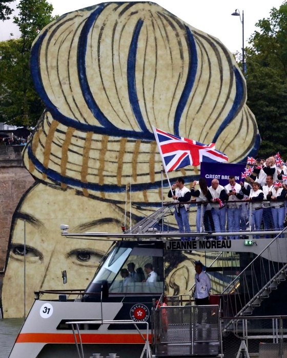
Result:
{"type": "MultiPolygon", "coordinates": [[[[217,355],[221,330],[219,306],[157,305],[152,311],[153,351],[159,356],[217,355]]],[[[168,301],[171,298],[169,297],[168,301]]]]}

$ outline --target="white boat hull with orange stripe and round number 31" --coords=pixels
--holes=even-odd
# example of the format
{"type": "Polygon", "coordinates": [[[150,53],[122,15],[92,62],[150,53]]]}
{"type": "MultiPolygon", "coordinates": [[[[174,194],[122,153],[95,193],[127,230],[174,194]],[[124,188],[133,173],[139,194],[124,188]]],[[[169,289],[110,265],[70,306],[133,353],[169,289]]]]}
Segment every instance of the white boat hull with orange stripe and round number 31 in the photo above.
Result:
{"type": "MultiPolygon", "coordinates": [[[[57,358],[78,357],[75,338],[70,325],[66,321],[114,320],[123,307],[121,302],[59,302],[36,300],[31,311],[18,334],[9,358],[57,358]],[[50,308],[50,310],[49,310],[50,308]],[[48,311],[49,310],[49,311],[48,311]]],[[[146,335],[146,325],[141,325],[142,334],[146,335]],[[144,327],[145,326],[145,327],[144,327]]],[[[133,357],[140,357],[144,349],[144,340],[135,329],[121,327],[113,329],[103,324],[93,329],[92,325],[81,327],[81,340],[84,356],[92,353],[120,352],[120,357],[131,350],[133,357]],[[127,345],[130,345],[127,349],[127,345]]]]}

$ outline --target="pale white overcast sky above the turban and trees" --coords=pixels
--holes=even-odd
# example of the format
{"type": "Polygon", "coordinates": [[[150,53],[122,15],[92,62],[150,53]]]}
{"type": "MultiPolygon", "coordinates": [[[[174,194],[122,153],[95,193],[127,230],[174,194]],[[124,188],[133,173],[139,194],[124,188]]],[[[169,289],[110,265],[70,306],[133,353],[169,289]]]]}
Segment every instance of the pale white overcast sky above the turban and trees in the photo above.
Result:
{"type": "MultiPolygon", "coordinates": [[[[97,0],[48,0],[54,7],[53,15],[103,3],[97,0]]],[[[157,0],[158,5],[167,9],[189,25],[213,35],[232,52],[242,51],[242,24],[239,16],[231,16],[236,9],[244,12],[244,47],[256,30],[258,20],[267,18],[273,7],[279,8],[283,0],[157,0]]],[[[18,1],[12,3],[16,7],[18,1]]],[[[13,13],[14,15],[16,12],[13,13]]],[[[19,37],[13,20],[0,22],[0,40],[19,37]]]]}

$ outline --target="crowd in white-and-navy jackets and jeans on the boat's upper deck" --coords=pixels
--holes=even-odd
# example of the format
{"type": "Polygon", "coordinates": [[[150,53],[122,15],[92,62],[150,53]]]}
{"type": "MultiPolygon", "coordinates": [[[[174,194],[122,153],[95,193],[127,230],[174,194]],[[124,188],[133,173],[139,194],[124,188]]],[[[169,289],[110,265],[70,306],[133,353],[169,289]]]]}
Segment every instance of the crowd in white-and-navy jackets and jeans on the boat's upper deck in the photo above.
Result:
{"type": "MultiPolygon", "coordinates": [[[[229,239],[239,239],[239,231],[247,229],[250,210],[252,231],[259,231],[261,223],[264,231],[284,229],[287,167],[280,154],[277,153],[266,160],[248,157],[247,163],[248,168],[241,173],[242,182],[236,183],[235,176],[230,175],[229,184],[224,187],[216,178],[208,187],[205,178],[201,177],[198,182],[193,182],[189,190],[184,186],[184,179],[177,178],[168,196],[179,203],[175,206],[174,212],[179,232],[190,232],[188,220],[190,201],[195,201],[197,204],[196,232],[222,233],[222,236],[217,236],[217,240],[224,239],[224,233],[227,231],[236,233],[229,236],[229,239]],[[198,189],[195,188],[196,185],[199,185],[198,189]]],[[[260,238],[259,235],[254,237],[260,238]]],[[[271,236],[267,234],[265,237],[271,236]]],[[[191,239],[191,237],[181,237],[181,240],[191,239]]],[[[194,239],[199,240],[200,237],[194,239]]],[[[210,237],[210,239],[214,238],[210,237]]]]}

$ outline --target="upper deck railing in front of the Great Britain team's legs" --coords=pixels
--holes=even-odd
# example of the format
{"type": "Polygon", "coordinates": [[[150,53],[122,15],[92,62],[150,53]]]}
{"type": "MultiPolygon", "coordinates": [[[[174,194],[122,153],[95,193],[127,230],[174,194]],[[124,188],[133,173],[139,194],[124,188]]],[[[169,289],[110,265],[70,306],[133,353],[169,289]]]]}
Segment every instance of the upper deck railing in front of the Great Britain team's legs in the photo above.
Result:
{"type": "MultiPolygon", "coordinates": [[[[189,225],[190,231],[185,233],[178,232],[178,226],[176,222],[176,206],[182,203],[167,202],[162,203],[162,207],[151,215],[145,217],[141,221],[137,222],[134,226],[125,231],[128,236],[130,234],[146,234],[146,233],[161,233],[167,234],[167,237],[171,235],[177,237],[191,237],[191,239],[197,238],[216,238],[217,236],[224,236],[229,238],[230,236],[237,236],[240,238],[251,238],[255,235],[259,238],[269,237],[271,235],[277,235],[283,229],[283,223],[280,222],[278,227],[275,227],[272,207],[270,203],[274,205],[274,202],[270,200],[262,200],[262,220],[260,227],[255,227],[253,222],[254,210],[252,210],[252,202],[244,202],[242,200],[235,200],[233,203],[240,203],[242,206],[240,217],[240,229],[239,231],[229,230],[228,220],[226,219],[226,225],[223,231],[215,231],[214,222],[211,214],[211,210],[208,210],[207,203],[191,201],[187,204],[189,207],[189,225]],[[244,208],[244,209],[243,209],[244,208]],[[200,220],[196,225],[196,216],[199,212],[200,220]],[[182,235],[181,235],[182,234],[182,235]]],[[[227,204],[225,202],[224,204],[227,204]]],[[[285,218],[285,216],[284,216],[285,218]]],[[[284,221],[284,219],[283,219],[284,221]]]]}

